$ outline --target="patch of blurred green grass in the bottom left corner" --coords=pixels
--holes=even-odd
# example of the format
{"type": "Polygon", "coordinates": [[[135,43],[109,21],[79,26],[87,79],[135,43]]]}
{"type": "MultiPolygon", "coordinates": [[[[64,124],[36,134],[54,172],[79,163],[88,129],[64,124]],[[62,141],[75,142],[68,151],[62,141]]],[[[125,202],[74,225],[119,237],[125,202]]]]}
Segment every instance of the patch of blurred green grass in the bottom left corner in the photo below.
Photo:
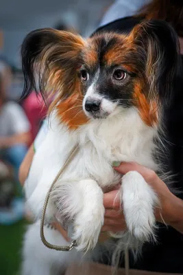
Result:
{"type": "Polygon", "coordinates": [[[0,225],[0,274],[17,275],[21,264],[21,245],[26,221],[0,225]]]}

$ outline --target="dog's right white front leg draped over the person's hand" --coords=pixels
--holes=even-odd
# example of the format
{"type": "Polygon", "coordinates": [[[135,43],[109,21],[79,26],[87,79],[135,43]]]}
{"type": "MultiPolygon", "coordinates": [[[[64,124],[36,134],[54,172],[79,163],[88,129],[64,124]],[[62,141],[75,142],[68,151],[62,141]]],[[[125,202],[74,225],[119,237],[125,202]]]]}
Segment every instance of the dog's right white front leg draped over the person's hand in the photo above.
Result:
{"type": "Polygon", "coordinates": [[[154,238],[156,193],[136,171],[123,176],[121,201],[127,229],[141,242],[154,238]]]}

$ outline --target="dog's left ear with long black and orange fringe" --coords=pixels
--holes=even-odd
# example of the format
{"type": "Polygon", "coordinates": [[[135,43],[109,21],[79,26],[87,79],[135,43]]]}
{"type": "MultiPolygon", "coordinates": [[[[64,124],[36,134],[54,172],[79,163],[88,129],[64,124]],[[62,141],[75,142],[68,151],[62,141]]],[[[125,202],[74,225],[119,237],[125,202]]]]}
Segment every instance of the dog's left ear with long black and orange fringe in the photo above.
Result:
{"type": "Polygon", "coordinates": [[[54,92],[60,98],[74,94],[84,44],[79,35],[71,32],[51,28],[30,32],[21,47],[25,77],[22,98],[29,96],[33,90],[40,92],[43,98],[54,92]]]}

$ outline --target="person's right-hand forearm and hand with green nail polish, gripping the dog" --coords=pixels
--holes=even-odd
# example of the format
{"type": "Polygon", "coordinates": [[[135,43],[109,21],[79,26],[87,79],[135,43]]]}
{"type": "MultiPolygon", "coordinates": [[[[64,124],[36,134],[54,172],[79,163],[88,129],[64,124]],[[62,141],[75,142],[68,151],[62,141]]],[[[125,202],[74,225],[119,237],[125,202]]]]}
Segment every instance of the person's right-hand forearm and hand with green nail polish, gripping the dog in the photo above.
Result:
{"type": "MultiPolygon", "coordinates": [[[[183,233],[183,201],[173,195],[154,171],[136,163],[123,163],[114,169],[123,175],[132,170],[140,173],[158,195],[160,208],[156,208],[156,220],[171,225],[175,230],[183,233]]],[[[106,208],[103,225],[105,231],[112,230],[115,232],[125,228],[123,212],[119,210],[120,201],[117,192],[118,190],[108,192],[103,198],[106,208]]]]}

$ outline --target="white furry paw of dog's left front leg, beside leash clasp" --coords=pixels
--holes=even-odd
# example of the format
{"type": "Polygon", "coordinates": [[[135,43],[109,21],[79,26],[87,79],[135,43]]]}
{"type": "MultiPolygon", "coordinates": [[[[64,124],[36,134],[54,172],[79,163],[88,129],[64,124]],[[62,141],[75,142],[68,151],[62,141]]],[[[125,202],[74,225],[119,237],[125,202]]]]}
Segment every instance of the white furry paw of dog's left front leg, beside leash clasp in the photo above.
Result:
{"type": "Polygon", "coordinates": [[[95,248],[103,225],[103,215],[103,205],[94,207],[92,212],[84,209],[77,214],[72,236],[72,239],[77,242],[77,250],[87,252],[95,248]]]}

